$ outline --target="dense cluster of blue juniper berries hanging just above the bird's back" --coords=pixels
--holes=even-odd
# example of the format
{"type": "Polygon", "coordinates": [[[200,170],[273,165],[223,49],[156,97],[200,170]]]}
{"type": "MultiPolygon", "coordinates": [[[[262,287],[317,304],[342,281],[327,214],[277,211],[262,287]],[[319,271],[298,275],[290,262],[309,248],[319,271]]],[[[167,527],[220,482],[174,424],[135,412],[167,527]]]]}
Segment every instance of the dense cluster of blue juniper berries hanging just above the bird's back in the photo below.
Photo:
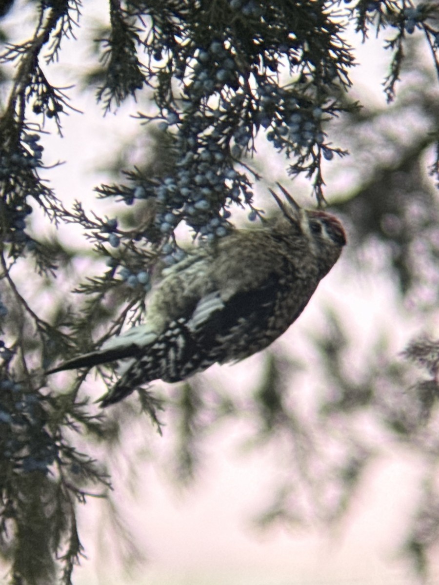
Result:
{"type": "Polygon", "coordinates": [[[219,121],[224,113],[224,109],[217,109],[203,116],[188,111],[182,115],[170,111],[167,115],[166,125],[176,126],[174,152],[179,154],[176,172],[154,189],[155,223],[163,236],[170,235],[182,219],[208,239],[228,233],[225,205],[241,201],[241,185],[246,178],[233,168],[224,142],[219,121]]]}

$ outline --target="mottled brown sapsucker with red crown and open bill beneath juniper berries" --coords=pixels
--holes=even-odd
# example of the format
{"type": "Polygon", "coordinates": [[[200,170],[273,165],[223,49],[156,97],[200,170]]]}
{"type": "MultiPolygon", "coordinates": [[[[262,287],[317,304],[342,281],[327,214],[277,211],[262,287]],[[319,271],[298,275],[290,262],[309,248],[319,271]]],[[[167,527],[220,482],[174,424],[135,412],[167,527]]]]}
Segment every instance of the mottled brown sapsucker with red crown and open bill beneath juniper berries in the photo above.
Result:
{"type": "Polygon", "coordinates": [[[194,247],[163,271],[143,325],[49,373],[124,360],[118,382],[102,398],[107,406],[140,384],[184,380],[270,345],[306,307],[346,243],[337,218],[301,209],[282,190],[287,205],[272,191],[280,218],[194,247]]]}

